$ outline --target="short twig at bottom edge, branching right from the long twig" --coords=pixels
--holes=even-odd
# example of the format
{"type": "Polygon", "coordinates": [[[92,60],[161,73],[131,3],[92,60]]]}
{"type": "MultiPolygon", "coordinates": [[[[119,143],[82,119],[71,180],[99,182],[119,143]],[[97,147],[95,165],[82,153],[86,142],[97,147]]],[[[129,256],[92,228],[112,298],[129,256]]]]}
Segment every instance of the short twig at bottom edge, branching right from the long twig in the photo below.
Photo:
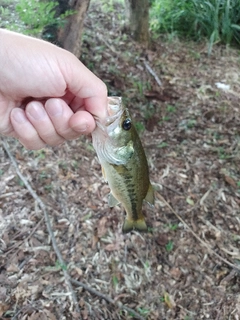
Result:
{"type": "Polygon", "coordinates": [[[86,291],[90,292],[91,294],[94,294],[95,296],[104,299],[105,301],[107,301],[108,303],[113,304],[114,306],[118,306],[121,310],[126,310],[127,312],[131,313],[136,319],[139,320],[145,320],[146,318],[142,317],[138,312],[136,312],[135,310],[133,310],[132,308],[129,308],[125,305],[123,305],[121,302],[117,302],[110,298],[109,296],[104,295],[103,293],[87,286],[85,283],[81,282],[81,281],[77,281],[75,279],[70,278],[70,281],[75,284],[76,286],[82,287],[83,289],[85,289],[86,291]]]}

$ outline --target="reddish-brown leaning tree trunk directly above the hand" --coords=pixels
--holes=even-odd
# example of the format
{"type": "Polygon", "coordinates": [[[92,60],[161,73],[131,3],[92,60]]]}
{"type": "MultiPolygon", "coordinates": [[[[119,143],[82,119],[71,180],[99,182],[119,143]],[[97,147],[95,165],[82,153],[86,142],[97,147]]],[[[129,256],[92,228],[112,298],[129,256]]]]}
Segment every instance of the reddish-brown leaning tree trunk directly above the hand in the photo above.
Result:
{"type": "Polygon", "coordinates": [[[90,0],[59,0],[58,2],[60,13],[64,13],[66,10],[76,12],[66,18],[67,22],[60,28],[58,32],[58,43],[79,58],[81,53],[83,23],[90,0]]]}

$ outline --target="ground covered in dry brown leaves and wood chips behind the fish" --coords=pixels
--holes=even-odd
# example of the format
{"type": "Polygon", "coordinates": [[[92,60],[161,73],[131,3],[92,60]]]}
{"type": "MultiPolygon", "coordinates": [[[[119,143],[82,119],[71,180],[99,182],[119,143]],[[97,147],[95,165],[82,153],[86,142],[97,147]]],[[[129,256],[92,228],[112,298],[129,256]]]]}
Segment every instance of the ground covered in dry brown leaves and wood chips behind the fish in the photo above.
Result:
{"type": "Polygon", "coordinates": [[[91,137],[40,151],[7,139],[65,265],[0,146],[0,319],[140,319],[118,302],[148,320],[240,319],[239,50],[215,45],[209,57],[206,43],[171,37],[147,50],[122,32],[123,16],[93,2],[82,60],[135,119],[156,188],[155,207],[144,205],[151,232],[122,234],[91,137]],[[80,317],[64,271],[115,304],[73,284],[80,317]]]}

